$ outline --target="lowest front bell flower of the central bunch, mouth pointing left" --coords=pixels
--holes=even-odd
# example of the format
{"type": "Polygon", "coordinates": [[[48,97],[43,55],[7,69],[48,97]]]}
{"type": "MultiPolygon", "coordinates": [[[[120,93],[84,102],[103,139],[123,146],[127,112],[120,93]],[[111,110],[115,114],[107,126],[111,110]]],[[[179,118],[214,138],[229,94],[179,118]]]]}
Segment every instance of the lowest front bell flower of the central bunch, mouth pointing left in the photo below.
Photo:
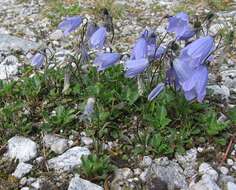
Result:
{"type": "Polygon", "coordinates": [[[148,59],[128,60],[125,63],[125,77],[133,78],[145,71],[148,67],[148,59]]]}

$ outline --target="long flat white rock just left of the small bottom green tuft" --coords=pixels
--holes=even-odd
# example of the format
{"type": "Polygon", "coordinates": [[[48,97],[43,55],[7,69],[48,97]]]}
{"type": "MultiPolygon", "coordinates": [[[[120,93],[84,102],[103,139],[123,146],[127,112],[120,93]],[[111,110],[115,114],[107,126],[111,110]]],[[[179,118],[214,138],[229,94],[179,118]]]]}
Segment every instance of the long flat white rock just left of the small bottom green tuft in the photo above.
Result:
{"type": "Polygon", "coordinates": [[[73,147],[62,155],[48,161],[49,168],[58,172],[70,171],[81,164],[81,156],[89,155],[90,151],[85,147],[73,147]]]}

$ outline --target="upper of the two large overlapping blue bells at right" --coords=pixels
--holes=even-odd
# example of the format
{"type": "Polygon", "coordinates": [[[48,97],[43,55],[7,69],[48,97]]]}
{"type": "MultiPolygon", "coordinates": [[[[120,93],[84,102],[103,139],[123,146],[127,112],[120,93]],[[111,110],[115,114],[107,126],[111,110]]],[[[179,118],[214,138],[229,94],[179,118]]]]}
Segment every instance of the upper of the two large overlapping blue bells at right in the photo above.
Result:
{"type": "Polygon", "coordinates": [[[209,58],[214,48],[214,40],[211,36],[201,37],[183,48],[179,59],[188,62],[191,67],[198,67],[209,58]]]}

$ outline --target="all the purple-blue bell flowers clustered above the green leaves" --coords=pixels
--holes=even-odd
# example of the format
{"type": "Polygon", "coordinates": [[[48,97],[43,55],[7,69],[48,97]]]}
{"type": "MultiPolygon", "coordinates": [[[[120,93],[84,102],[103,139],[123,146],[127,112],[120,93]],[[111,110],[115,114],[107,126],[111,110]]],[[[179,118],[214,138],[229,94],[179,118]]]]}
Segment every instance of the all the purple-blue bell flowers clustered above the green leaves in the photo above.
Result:
{"type": "MultiPolygon", "coordinates": [[[[82,63],[89,62],[89,52],[95,52],[93,66],[98,72],[102,72],[125,57],[125,54],[113,52],[111,48],[107,51],[108,48],[105,48],[109,32],[113,29],[111,23],[98,26],[82,16],[73,16],[62,21],[58,28],[65,36],[68,36],[81,25],[83,33],[79,52],[82,63]]],[[[153,78],[159,75],[158,71],[162,72],[165,68],[167,69],[165,77],[156,77],[158,78],[156,82],[159,83],[149,93],[149,101],[157,97],[166,87],[174,87],[176,91],[182,91],[187,100],[196,99],[202,102],[208,82],[206,63],[210,61],[210,56],[215,50],[214,38],[202,35],[194,29],[190,24],[189,16],[184,12],[168,16],[166,31],[166,35],[169,36],[174,33],[175,39],[168,42],[165,39],[166,35],[161,39],[155,31],[144,30],[134,43],[128,58],[124,59],[125,77],[137,77],[140,80],[143,76],[143,80],[151,81],[150,86],[152,86],[153,78]],[[197,36],[201,37],[197,38],[197,36]],[[185,47],[181,50],[173,48],[176,45],[181,47],[182,43],[178,45],[177,42],[182,40],[187,44],[185,47]],[[146,74],[147,72],[149,73],[146,74]]],[[[32,59],[32,65],[39,68],[42,67],[44,61],[45,55],[37,53],[32,59]]]]}

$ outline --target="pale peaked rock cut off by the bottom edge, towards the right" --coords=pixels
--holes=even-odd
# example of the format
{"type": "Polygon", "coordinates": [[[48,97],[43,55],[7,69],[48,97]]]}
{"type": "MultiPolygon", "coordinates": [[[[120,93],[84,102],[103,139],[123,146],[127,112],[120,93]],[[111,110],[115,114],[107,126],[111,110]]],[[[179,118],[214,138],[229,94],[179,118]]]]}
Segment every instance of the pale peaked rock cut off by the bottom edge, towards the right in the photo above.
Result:
{"type": "Polygon", "coordinates": [[[198,183],[192,184],[189,190],[220,190],[220,188],[210,176],[205,176],[198,183]]]}

